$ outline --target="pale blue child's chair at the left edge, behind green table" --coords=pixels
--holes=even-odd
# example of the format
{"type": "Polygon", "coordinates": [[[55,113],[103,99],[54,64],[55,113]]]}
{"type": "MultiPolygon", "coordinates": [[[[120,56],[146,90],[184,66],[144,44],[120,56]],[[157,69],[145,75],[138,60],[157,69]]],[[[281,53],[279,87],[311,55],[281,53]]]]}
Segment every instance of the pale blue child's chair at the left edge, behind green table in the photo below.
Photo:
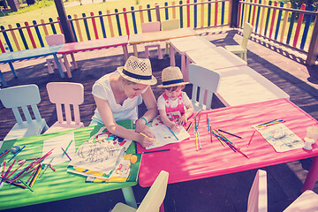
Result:
{"type": "Polygon", "coordinates": [[[41,117],[37,104],[41,102],[39,87],[36,85],[25,85],[0,89],[0,99],[4,107],[13,111],[17,123],[11,128],[4,140],[19,139],[41,134],[49,126],[41,117]],[[28,106],[31,106],[34,117],[31,117],[28,106]],[[22,109],[26,121],[22,120],[19,112],[22,109]]]}

